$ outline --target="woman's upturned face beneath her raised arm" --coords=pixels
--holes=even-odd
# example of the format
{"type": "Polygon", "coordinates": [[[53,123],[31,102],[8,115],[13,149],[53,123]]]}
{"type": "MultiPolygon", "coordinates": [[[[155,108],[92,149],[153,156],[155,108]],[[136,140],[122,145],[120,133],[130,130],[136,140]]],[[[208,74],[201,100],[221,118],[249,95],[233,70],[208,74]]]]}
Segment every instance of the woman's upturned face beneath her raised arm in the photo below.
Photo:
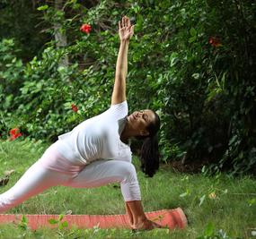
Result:
{"type": "Polygon", "coordinates": [[[133,131],[137,131],[138,135],[146,136],[149,132],[146,130],[149,124],[155,121],[155,116],[152,110],[145,109],[135,111],[128,115],[128,124],[133,131]]]}

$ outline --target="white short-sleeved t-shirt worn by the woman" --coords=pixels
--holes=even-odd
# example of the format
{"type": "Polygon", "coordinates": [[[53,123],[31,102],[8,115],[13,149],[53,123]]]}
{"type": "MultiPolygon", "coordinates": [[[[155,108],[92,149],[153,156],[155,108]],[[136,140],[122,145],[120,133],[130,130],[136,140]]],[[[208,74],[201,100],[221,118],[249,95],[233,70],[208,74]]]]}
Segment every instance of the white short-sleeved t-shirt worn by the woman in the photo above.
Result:
{"type": "Polygon", "coordinates": [[[131,162],[130,147],[120,141],[127,115],[127,101],[111,106],[101,115],[78,124],[71,132],[59,135],[58,152],[78,165],[101,158],[131,162]]]}

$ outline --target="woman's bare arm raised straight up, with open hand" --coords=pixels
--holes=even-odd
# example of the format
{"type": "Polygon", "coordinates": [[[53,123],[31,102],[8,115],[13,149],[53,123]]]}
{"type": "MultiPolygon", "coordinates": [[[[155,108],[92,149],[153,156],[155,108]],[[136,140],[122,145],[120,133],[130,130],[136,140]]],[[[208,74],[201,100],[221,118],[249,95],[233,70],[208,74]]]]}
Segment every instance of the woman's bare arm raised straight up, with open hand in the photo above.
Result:
{"type": "Polygon", "coordinates": [[[134,25],[130,24],[129,18],[124,16],[119,21],[120,47],[116,65],[115,83],[111,97],[111,105],[119,104],[126,100],[126,77],[128,73],[128,44],[133,36],[134,25]]]}

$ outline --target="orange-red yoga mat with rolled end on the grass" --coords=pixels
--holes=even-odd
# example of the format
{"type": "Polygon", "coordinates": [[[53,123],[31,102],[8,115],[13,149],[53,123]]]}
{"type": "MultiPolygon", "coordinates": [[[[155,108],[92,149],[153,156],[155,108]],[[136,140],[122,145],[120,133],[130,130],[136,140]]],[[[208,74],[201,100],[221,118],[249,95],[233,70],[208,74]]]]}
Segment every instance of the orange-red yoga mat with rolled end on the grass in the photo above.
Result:
{"type": "MultiPolygon", "coordinates": [[[[41,226],[57,226],[49,224],[49,219],[57,220],[58,215],[25,215],[25,217],[28,219],[28,226],[32,230],[41,226]]],[[[181,208],[146,212],[146,217],[170,229],[187,226],[187,218],[181,208]]],[[[22,215],[0,214],[0,224],[19,224],[21,219],[22,215]]],[[[67,221],[69,227],[76,226],[78,228],[92,228],[93,226],[99,226],[100,228],[130,228],[126,215],[65,215],[62,219],[63,221],[67,221]]]]}

